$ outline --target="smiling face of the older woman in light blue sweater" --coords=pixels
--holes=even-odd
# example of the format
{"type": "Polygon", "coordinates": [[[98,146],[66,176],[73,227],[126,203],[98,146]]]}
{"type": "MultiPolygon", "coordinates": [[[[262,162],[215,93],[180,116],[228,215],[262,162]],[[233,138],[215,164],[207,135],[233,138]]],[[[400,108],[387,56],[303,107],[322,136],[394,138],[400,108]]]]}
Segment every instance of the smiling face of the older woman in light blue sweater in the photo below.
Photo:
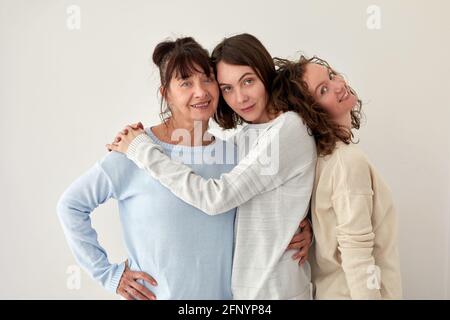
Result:
{"type": "Polygon", "coordinates": [[[219,87],[214,72],[209,77],[199,71],[188,78],[172,76],[166,100],[174,118],[208,121],[216,112],[219,102],[219,87]]]}

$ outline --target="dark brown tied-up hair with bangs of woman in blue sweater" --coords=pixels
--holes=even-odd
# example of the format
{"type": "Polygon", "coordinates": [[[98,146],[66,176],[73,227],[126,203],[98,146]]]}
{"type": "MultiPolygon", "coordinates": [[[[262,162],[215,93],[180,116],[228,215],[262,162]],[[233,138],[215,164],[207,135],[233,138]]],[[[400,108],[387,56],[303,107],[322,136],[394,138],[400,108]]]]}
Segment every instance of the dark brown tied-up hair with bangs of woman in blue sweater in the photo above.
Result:
{"type": "Polygon", "coordinates": [[[172,77],[188,78],[194,72],[204,72],[209,77],[213,64],[208,51],[191,37],[160,42],[153,51],[153,62],[159,69],[162,88],[160,117],[165,122],[172,114],[164,103],[172,77]],[[198,67],[201,70],[197,70],[198,67]]]}

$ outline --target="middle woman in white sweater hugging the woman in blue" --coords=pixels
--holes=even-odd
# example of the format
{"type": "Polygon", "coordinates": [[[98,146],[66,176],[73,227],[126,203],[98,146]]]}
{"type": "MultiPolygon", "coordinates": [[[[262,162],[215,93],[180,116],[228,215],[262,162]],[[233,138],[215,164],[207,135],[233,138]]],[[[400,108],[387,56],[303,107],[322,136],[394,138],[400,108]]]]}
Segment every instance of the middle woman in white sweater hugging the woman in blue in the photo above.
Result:
{"type": "Polygon", "coordinates": [[[225,129],[247,123],[236,138],[240,161],[231,172],[204,179],[130,126],[108,147],[126,153],[177,197],[210,215],[238,207],[234,299],[310,299],[309,264],[297,264],[286,247],[309,209],[314,139],[297,112],[280,112],[273,104],[275,65],[255,37],[227,38],[212,58],[222,92],[215,120],[225,129]]]}

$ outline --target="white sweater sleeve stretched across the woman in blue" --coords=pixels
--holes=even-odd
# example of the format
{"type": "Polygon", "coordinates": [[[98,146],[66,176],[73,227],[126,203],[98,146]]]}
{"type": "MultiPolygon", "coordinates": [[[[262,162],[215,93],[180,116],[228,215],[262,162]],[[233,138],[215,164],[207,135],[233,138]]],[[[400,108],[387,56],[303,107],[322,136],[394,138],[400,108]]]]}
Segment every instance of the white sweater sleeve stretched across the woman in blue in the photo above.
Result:
{"type": "Polygon", "coordinates": [[[171,160],[145,134],[133,140],[127,156],[178,198],[216,215],[314,170],[316,149],[300,117],[291,115],[261,133],[256,146],[220,179],[196,175],[188,166],[171,160]]]}

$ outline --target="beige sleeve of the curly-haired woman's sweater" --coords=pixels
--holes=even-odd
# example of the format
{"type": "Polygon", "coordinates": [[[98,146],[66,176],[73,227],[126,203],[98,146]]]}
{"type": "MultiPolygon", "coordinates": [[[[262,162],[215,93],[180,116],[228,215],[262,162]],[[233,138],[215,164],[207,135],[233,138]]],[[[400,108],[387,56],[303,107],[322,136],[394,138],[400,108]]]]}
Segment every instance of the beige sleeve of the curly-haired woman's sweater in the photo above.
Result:
{"type": "Polygon", "coordinates": [[[334,177],[333,209],[336,235],[352,299],[381,299],[372,227],[373,191],[368,164],[340,163],[334,177]]]}

